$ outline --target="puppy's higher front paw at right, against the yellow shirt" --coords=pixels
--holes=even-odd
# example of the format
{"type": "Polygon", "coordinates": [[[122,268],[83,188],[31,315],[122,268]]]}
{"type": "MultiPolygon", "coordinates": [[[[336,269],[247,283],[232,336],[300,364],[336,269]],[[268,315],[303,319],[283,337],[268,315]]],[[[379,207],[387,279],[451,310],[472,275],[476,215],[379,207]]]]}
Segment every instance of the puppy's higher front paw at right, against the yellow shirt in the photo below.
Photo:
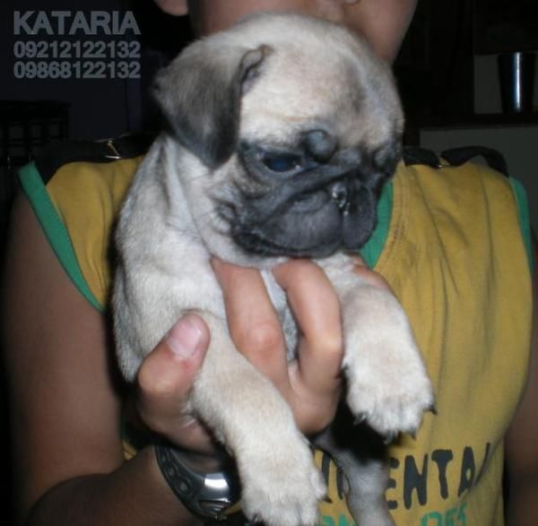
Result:
{"type": "Polygon", "coordinates": [[[404,311],[395,300],[387,302],[384,323],[361,320],[346,335],[343,365],[351,411],[392,440],[400,432],[417,432],[434,397],[404,311]]]}

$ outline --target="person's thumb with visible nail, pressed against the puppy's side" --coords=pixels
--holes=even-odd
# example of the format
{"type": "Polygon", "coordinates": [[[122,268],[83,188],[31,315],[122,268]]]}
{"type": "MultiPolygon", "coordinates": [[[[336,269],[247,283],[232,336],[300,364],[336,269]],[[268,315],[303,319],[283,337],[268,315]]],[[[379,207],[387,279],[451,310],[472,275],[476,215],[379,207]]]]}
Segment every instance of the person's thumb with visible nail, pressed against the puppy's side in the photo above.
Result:
{"type": "Polygon", "coordinates": [[[137,408],[145,424],[175,443],[200,442],[201,449],[209,436],[187,413],[187,401],[209,340],[202,318],[186,315],[143,360],[137,376],[137,408]]]}

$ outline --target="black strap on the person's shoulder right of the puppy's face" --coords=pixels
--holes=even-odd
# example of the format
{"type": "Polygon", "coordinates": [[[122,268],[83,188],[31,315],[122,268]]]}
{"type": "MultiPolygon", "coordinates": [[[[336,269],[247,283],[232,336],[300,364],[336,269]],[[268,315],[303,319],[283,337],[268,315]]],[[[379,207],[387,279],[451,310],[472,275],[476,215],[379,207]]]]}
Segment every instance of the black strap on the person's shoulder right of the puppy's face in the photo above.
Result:
{"type": "Polygon", "coordinates": [[[462,166],[475,157],[483,157],[488,166],[508,177],[508,165],[500,151],[486,146],[463,146],[442,151],[438,156],[434,151],[417,146],[404,148],[404,163],[406,166],[424,164],[431,168],[441,168],[440,159],[446,160],[451,166],[462,166]]]}

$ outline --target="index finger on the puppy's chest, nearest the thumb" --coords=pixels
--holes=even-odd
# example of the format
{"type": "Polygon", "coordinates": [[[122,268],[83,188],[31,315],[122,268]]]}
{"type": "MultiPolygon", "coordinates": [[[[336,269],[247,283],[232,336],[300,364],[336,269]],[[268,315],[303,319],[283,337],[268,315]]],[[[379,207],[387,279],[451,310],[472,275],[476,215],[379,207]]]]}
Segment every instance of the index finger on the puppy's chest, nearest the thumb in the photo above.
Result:
{"type": "Polygon", "coordinates": [[[221,284],[231,339],[258,371],[286,389],[286,345],[260,272],[214,258],[212,264],[221,284]]]}

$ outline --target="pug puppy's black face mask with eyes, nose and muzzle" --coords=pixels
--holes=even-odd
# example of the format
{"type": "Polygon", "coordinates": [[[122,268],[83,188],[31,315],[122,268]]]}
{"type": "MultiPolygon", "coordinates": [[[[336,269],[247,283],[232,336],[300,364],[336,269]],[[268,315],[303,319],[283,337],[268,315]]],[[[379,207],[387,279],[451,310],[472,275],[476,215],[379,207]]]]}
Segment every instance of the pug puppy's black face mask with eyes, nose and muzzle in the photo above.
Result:
{"type": "Polygon", "coordinates": [[[247,178],[237,186],[231,235],[248,253],[268,256],[324,257],[360,248],[375,228],[379,190],[394,169],[378,169],[359,148],[320,162],[306,148],[243,144],[239,158],[247,178]]]}

